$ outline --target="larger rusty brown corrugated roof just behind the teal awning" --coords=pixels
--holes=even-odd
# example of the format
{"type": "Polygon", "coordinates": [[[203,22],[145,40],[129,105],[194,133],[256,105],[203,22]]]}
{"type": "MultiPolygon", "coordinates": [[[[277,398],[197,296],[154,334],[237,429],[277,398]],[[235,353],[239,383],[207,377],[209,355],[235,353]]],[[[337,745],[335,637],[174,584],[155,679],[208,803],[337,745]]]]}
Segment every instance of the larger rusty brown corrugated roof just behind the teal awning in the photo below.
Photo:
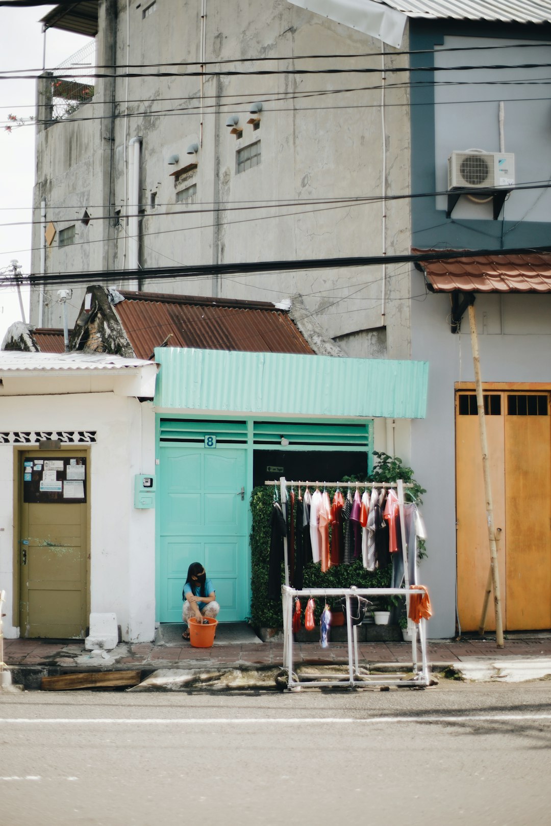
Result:
{"type": "Polygon", "coordinates": [[[113,306],[137,358],[155,347],[313,354],[286,311],[268,301],[123,292],[113,306]]]}

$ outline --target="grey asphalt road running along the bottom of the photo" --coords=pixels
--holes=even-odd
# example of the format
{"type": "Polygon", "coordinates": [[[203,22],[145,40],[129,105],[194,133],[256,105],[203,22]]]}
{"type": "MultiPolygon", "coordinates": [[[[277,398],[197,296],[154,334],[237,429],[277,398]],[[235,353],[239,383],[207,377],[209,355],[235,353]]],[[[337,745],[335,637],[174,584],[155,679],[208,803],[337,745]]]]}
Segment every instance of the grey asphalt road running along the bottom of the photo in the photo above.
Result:
{"type": "Polygon", "coordinates": [[[2,826],[549,826],[551,685],[0,695],[2,826]]]}

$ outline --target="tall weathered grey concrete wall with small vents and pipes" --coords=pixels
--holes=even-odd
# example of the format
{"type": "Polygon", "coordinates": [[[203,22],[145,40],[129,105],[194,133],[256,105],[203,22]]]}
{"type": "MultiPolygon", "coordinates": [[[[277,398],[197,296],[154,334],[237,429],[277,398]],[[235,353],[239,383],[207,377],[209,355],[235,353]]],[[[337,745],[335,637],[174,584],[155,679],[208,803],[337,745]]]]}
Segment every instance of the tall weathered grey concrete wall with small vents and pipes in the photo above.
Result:
{"type": "MultiPolygon", "coordinates": [[[[201,127],[200,79],[192,76],[200,58],[201,0],[164,0],[156,11],[142,17],[143,9],[131,5],[130,50],[126,39],[126,2],[117,8],[116,55],[119,64],[151,64],[151,77],[119,78],[116,82],[116,121],[112,158],[105,123],[63,122],[39,134],[36,203],[44,194],[48,220],[56,226],[73,221],[73,213],[87,205],[107,204],[109,165],[112,164],[112,203],[124,214],[127,184],[126,146],[142,138],[140,191],[143,219],[140,263],[143,267],[175,264],[227,263],[272,259],[302,259],[406,252],[410,216],[407,201],[387,204],[386,238],[382,239],[381,202],[359,203],[382,192],[382,118],[378,40],[339,26],[287,2],[231,0],[207,2],[206,54],[212,69],[374,69],[374,74],[273,74],[209,77],[204,83],[201,127]],[[352,55],[372,54],[372,57],[352,55]],[[298,59],[298,55],[351,55],[350,57],[298,59]],[[235,63],[240,59],[256,58],[235,63]],[[269,58],[260,61],[258,58],[269,58]],[[273,58],[273,59],[272,59],[273,58]],[[285,58],[279,59],[275,58],[285,58]],[[182,75],[164,78],[159,63],[181,66],[182,75]],[[337,90],[349,89],[349,92],[337,90]],[[335,94],[321,94],[333,90],[335,94]],[[259,130],[247,124],[249,104],[263,103],[259,130]],[[127,116],[125,113],[127,112],[127,116]],[[228,116],[239,116],[243,137],[236,140],[226,127],[228,116]],[[202,141],[201,141],[202,138],[202,141]],[[262,161],[254,169],[236,171],[236,152],[256,140],[262,161]],[[188,145],[201,143],[197,156],[186,154],[188,145]],[[169,166],[171,154],[179,154],[169,166]],[[197,161],[197,172],[178,182],[171,173],[197,161]],[[197,202],[176,202],[179,189],[197,185],[197,202]],[[155,197],[151,205],[152,193],[155,197]],[[331,205],[331,199],[339,204],[331,205]],[[343,202],[344,199],[344,202],[343,202]],[[74,207],[59,212],[62,205],[74,207]],[[284,206],[287,205],[287,206],[284,206]],[[56,221],[56,218],[58,219],[56,221]]],[[[142,4],[143,5],[143,4],[142,4]]],[[[107,4],[108,6],[108,4],[107,4]]],[[[105,9],[106,4],[102,4],[105,9]]],[[[108,22],[97,36],[105,54],[108,22]]],[[[386,57],[387,69],[405,64],[405,56],[386,57]]],[[[392,75],[389,74],[392,79],[392,75]]],[[[107,112],[107,89],[98,81],[92,104],[79,110],[88,115],[107,112]],[[103,103],[102,103],[103,102],[103,103]],[[92,107],[94,109],[92,110],[92,107]]],[[[409,128],[404,104],[407,90],[387,91],[385,136],[387,193],[409,190],[409,128]]],[[[72,116],[77,121],[79,112],[72,116]]],[[[88,209],[90,211],[90,209],[88,209]]],[[[103,210],[105,218],[105,209],[103,210]]],[[[93,215],[93,217],[96,217],[93,215]]],[[[108,229],[107,221],[78,225],[78,244],[59,249],[57,240],[48,250],[47,271],[87,271],[107,266],[124,268],[128,259],[126,221],[108,229]],[[108,243],[105,239],[109,239],[108,243]],[[107,249],[107,252],[106,252],[107,249]],[[107,263],[106,263],[107,262],[107,263]]],[[[38,233],[38,230],[37,230],[38,233]]],[[[34,244],[37,246],[37,244],[34,244]]],[[[33,259],[33,271],[36,261],[33,259]]],[[[373,348],[393,358],[409,357],[409,310],[402,301],[409,288],[407,268],[387,267],[386,317],[382,319],[382,268],[327,269],[315,273],[270,276],[235,276],[193,280],[147,281],[142,288],[154,292],[279,301],[300,293],[306,312],[315,314],[331,337],[344,336],[343,348],[352,355],[373,348]],[[365,330],[386,335],[364,335],[365,330]],[[370,338],[371,335],[371,338],[370,338]]],[[[72,301],[74,320],[80,293],[72,301]]],[[[32,320],[36,323],[37,298],[32,320]]],[[[59,324],[55,297],[45,314],[45,324],[59,324]]]]}

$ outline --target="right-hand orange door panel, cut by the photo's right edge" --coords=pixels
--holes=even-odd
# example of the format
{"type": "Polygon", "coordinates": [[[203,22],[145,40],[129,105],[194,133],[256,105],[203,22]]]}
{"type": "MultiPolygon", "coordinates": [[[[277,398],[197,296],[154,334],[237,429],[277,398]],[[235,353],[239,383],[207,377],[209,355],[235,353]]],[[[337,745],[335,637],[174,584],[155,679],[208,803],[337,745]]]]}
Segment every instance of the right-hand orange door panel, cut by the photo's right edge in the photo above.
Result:
{"type": "Polygon", "coordinates": [[[506,628],[551,628],[549,394],[506,393],[506,628]]]}

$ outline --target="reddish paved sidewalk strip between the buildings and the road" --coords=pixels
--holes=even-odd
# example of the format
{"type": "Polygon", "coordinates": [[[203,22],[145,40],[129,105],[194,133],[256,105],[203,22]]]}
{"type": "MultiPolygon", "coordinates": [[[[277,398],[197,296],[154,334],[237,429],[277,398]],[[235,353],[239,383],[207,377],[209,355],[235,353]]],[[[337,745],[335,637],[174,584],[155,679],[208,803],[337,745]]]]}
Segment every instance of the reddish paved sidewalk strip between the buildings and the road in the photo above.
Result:
{"type": "MultiPolygon", "coordinates": [[[[10,667],[55,667],[88,671],[117,668],[185,668],[201,664],[210,667],[281,666],[282,643],[218,644],[212,648],[192,648],[154,643],[121,643],[108,657],[91,656],[83,643],[50,643],[31,639],[5,639],[4,661],[10,667]]],[[[551,656],[551,635],[506,639],[504,648],[495,640],[462,638],[460,641],[435,640],[427,646],[429,662],[453,663],[471,657],[543,657],[551,656]]],[[[411,643],[360,643],[359,658],[364,663],[411,662],[411,643]]],[[[348,662],[344,643],[321,648],[318,643],[295,643],[293,662],[324,664],[348,662]]]]}

